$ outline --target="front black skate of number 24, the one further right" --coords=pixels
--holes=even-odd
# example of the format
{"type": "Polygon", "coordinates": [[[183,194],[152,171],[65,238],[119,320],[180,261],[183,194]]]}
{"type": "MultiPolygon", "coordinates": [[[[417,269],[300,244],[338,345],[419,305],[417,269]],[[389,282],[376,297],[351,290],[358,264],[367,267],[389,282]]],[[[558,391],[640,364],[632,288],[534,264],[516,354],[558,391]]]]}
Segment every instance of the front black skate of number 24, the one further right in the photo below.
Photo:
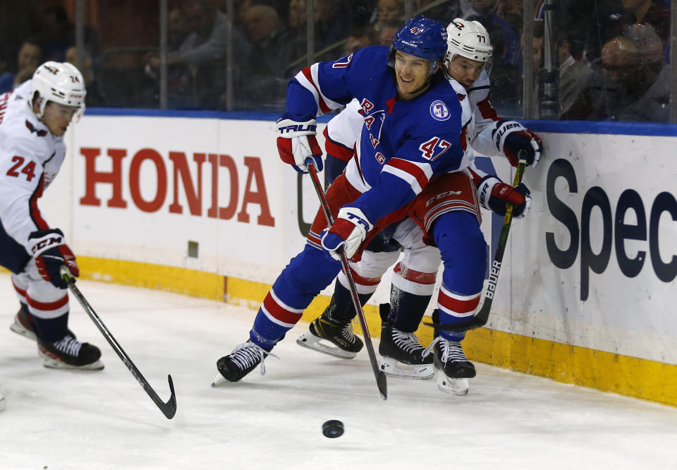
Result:
{"type": "Polygon", "coordinates": [[[44,358],[43,366],[52,369],[102,370],[101,350],[89,343],[81,343],[68,333],[59,341],[37,340],[37,351],[44,358]]]}

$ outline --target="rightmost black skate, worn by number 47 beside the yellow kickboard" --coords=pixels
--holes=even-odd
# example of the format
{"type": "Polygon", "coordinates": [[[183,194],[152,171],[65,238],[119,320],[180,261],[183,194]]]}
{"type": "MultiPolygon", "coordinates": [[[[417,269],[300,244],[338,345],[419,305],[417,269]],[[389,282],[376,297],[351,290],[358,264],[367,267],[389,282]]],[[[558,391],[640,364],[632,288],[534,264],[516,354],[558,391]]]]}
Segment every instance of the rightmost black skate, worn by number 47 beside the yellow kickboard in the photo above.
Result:
{"type": "Polygon", "coordinates": [[[471,378],[477,374],[463,353],[461,343],[437,337],[428,349],[434,347],[434,365],[438,370],[437,388],[445,393],[468,394],[471,378]]]}

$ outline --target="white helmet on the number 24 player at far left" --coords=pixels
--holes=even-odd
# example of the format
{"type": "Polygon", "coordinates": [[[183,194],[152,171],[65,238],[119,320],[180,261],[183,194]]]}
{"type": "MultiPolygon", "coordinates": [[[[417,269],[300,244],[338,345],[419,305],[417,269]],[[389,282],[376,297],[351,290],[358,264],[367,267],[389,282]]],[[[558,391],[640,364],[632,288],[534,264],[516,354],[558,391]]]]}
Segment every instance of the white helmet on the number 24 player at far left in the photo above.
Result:
{"type": "Polygon", "coordinates": [[[38,119],[42,119],[47,102],[78,107],[77,116],[85,111],[85,80],[78,68],[68,62],[47,61],[39,66],[31,80],[31,100],[38,92],[41,98],[38,119]]]}

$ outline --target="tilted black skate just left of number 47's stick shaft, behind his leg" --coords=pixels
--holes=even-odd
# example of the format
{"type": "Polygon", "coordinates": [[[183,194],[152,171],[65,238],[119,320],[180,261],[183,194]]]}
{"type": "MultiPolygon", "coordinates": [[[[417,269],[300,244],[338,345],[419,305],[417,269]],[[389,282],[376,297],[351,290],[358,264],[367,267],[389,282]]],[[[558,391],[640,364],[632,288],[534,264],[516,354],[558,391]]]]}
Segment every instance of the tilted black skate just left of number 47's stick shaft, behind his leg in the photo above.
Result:
{"type": "Polygon", "coordinates": [[[332,317],[329,308],[310,323],[308,330],[310,331],[300,336],[296,343],[324,354],[352,359],[364,346],[362,339],[353,333],[351,321],[332,317]]]}

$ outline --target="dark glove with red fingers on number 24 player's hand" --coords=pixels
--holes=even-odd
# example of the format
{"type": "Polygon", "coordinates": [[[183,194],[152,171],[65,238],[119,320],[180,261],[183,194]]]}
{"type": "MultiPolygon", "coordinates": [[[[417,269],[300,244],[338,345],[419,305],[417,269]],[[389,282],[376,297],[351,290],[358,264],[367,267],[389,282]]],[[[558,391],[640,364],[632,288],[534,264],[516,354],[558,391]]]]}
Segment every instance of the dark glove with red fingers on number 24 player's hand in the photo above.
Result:
{"type": "Polygon", "coordinates": [[[63,231],[59,229],[37,230],[28,236],[30,254],[35,258],[37,272],[42,279],[49,281],[59,289],[66,289],[68,284],[61,277],[61,266],[68,267],[75,277],[80,275],[75,255],[66,245],[63,231]]]}

